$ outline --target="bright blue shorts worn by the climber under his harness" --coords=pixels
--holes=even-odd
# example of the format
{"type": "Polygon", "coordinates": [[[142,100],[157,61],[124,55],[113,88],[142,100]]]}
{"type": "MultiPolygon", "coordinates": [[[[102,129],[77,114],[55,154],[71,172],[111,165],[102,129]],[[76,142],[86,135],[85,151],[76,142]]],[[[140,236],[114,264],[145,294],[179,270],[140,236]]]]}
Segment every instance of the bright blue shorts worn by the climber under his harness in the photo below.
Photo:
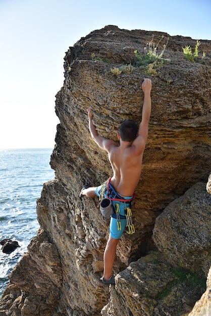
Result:
{"type": "MultiPolygon", "coordinates": [[[[100,196],[100,191],[102,189],[102,185],[96,187],[95,189],[95,193],[97,196],[100,196]]],[[[118,199],[123,199],[122,196],[120,196],[115,189],[112,187],[112,185],[109,185],[109,197],[114,198],[114,195],[116,196],[116,198],[118,199]]],[[[105,189],[104,192],[104,197],[107,197],[107,188],[105,189]]],[[[116,204],[119,204],[119,208],[120,208],[120,222],[121,222],[121,230],[118,230],[118,226],[117,226],[117,218],[116,218],[116,213],[114,213],[111,216],[111,222],[110,222],[110,236],[114,239],[120,239],[122,237],[122,234],[124,233],[125,230],[125,226],[127,224],[127,220],[125,218],[125,207],[129,207],[130,202],[127,202],[127,200],[131,200],[133,198],[133,196],[124,196],[125,201],[124,202],[120,202],[120,201],[112,201],[114,209],[116,209],[116,204]],[[122,218],[124,217],[124,218],[122,218]]]]}

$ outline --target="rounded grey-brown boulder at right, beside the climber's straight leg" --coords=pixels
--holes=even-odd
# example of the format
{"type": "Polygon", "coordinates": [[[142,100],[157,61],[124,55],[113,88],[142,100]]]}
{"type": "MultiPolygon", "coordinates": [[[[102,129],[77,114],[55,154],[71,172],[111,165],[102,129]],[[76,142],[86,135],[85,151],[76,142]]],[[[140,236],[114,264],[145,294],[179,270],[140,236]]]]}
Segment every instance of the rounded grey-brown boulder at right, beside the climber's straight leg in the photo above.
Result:
{"type": "Polygon", "coordinates": [[[211,195],[204,183],[197,183],[165,208],[155,221],[152,238],[173,265],[202,270],[206,276],[211,264],[210,219],[211,195]]]}

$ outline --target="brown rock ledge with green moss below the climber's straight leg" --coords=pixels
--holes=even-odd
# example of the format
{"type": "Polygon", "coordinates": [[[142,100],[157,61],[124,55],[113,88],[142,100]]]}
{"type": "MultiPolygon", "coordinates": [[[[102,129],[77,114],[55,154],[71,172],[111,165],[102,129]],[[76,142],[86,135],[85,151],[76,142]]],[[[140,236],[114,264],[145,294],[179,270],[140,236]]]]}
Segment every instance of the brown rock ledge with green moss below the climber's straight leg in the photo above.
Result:
{"type": "Polygon", "coordinates": [[[168,264],[160,252],[132,262],[110,287],[103,316],[179,316],[187,313],[205,289],[205,278],[168,264]]]}

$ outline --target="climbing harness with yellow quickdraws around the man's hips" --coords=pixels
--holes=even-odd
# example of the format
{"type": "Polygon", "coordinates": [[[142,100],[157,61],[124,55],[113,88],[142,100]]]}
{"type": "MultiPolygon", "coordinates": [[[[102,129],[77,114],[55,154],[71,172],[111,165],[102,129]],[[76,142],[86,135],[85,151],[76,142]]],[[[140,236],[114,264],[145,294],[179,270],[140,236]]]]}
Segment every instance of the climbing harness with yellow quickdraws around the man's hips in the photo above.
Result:
{"type": "Polygon", "coordinates": [[[114,188],[111,186],[112,178],[109,178],[107,181],[105,181],[102,184],[102,188],[100,191],[99,195],[99,200],[101,200],[104,197],[105,190],[107,189],[107,198],[109,198],[111,201],[117,201],[117,202],[124,202],[125,203],[125,216],[120,214],[120,205],[119,203],[115,203],[115,213],[112,215],[113,218],[117,219],[117,228],[118,230],[122,230],[121,227],[121,219],[126,219],[127,224],[126,224],[126,233],[128,234],[134,234],[135,233],[135,228],[132,223],[132,212],[131,212],[131,206],[132,206],[132,200],[135,197],[135,194],[133,194],[133,197],[131,199],[123,199],[121,196],[114,190],[114,188]],[[126,206],[126,203],[129,203],[129,206],[126,206]]]}

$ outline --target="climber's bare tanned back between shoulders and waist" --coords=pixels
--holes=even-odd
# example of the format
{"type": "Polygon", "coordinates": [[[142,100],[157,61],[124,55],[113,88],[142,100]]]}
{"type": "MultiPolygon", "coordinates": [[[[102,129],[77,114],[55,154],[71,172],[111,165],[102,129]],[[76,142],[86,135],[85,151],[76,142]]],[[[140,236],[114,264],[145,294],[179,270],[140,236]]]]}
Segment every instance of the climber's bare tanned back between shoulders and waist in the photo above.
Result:
{"type": "Polygon", "coordinates": [[[133,195],[141,175],[143,151],[133,145],[110,148],[109,161],[114,171],[111,184],[119,194],[133,195]]]}

